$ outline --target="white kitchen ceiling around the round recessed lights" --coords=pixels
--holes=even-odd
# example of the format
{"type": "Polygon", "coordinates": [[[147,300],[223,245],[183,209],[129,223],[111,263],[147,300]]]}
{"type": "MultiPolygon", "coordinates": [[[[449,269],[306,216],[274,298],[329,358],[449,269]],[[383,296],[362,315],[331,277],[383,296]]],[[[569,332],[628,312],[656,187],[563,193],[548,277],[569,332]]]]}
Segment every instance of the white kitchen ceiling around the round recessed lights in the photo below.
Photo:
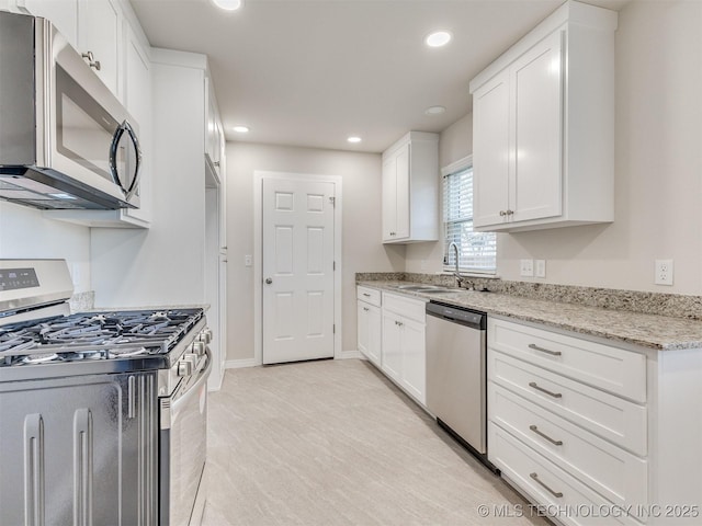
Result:
{"type": "Polygon", "coordinates": [[[563,3],[245,0],[226,12],[211,0],[131,2],[154,47],[207,55],[228,140],[372,152],[466,115],[469,80],[563,3]],[[427,47],[438,28],[452,42],[427,47]],[[426,115],[433,105],[445,113],[426,115]]]}

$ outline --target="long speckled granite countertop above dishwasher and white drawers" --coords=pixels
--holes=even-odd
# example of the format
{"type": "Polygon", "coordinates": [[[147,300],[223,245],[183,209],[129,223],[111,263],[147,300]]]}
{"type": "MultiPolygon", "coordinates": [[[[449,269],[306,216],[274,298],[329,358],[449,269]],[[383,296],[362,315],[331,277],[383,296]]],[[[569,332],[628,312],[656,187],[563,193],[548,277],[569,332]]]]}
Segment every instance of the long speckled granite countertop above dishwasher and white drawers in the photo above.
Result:
{"type": "Polygon", "coordinates": [[[530,299],[506,294],[456,290],[422,294],[399,290],[410,282],[362,281],[358,285],[480,310],[514,320],[604,338],[658,351],[702,348],[702,321],[530,299]]]}

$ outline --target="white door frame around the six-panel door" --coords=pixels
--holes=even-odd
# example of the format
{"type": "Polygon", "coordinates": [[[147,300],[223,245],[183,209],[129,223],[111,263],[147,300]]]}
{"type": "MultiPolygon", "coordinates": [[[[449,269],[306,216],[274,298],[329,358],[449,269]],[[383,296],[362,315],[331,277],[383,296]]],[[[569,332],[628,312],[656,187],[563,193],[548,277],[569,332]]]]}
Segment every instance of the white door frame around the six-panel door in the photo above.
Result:
{"type": "Polygon", "coordinates": [[[342,182],[341,175],[321,175],[312,173],[270,172],[256,170],[253,172],[253,254],[257,260],[253,265],[253,361],[256,365],[263,364],[263,180],[276,179],[281,181],[308,181],[317,183],[333,183],[333,358],[341,356],[341,210],[342,182]]]}

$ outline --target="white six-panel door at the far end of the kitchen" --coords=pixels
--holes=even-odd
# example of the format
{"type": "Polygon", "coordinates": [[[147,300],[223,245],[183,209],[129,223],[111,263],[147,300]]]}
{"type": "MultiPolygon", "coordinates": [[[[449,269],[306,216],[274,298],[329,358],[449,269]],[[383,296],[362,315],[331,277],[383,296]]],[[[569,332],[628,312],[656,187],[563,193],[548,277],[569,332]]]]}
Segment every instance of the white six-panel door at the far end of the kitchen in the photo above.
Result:
{"type": "Polygon", "coordinates": [[[263,180],[263,363],[333,357],[335,184],[263,180]]]}

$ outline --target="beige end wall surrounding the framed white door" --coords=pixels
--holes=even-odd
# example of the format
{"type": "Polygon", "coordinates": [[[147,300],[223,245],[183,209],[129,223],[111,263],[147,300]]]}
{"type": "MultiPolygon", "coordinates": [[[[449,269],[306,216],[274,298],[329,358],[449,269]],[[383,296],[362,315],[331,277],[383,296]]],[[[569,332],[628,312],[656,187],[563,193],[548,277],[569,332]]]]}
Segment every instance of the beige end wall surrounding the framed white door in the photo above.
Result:
{"type": "MultiPolygon", "coordinates": [[[[342,350],[355,350],[356,272],[401,272],[404,247],[381,243],[381,156],[245,142],[227,144],[227,359],[253,358],[253,178],[256,171],[343,178],[342,350]]],[[[254,265],[260,261],[253,260],[254,265]]]]}

